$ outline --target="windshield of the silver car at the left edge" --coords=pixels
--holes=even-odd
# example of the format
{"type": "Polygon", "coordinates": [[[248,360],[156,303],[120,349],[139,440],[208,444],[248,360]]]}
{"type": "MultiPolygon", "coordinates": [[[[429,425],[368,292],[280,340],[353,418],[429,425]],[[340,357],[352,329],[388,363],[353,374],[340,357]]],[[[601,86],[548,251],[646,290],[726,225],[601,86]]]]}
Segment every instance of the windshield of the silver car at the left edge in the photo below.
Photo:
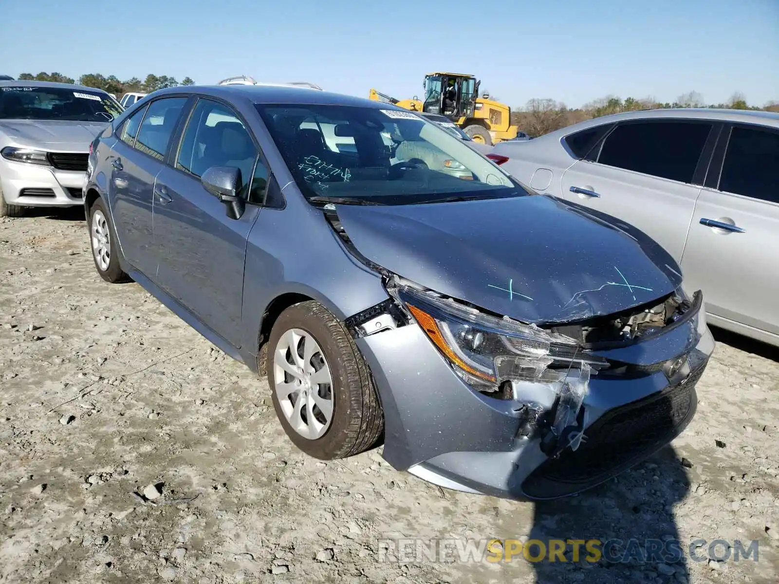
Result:
{"type": "Polygon", "coordinates": [[[112,121],[122,106],[108,93],[69,87],[0,87],[0,119],[112,121]]]}

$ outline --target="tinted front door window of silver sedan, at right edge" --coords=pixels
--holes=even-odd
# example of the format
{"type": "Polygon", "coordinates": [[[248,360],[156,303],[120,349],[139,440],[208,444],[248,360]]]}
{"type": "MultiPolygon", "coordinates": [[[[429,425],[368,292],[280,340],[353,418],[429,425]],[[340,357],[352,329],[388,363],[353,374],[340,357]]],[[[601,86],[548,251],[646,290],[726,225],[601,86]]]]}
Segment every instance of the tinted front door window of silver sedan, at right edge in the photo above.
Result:
{"type": "Polygon", "coordinates": [[[733,128],[722,165],[720,190],[779,202],[779,133],[733,128]]]}

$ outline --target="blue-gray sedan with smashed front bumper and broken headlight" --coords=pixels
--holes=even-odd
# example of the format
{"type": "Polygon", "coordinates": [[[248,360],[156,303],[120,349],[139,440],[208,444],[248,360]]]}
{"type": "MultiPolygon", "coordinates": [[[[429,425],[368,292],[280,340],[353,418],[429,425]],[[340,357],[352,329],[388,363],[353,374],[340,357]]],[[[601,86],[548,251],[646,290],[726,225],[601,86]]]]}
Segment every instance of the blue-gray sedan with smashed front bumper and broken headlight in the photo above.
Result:
{"type": "Polygon", "coordinates": [[[177,87],[92,150],[97,273],[132,278],[267,375],[311,456],[383,439],[396,469],[443,487],[555,498],[649,456],[695,413],[714,342],[671,256],[410,111],[177,87]]]}

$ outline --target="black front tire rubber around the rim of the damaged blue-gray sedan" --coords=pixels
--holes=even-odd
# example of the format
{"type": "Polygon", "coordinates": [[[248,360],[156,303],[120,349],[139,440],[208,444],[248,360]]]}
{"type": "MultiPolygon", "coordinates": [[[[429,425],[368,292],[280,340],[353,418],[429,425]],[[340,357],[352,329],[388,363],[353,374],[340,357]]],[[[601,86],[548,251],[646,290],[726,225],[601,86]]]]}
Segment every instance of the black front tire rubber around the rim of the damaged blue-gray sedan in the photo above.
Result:
{"type": "Polygon", "coordinates": [[[368,366],[344,324],[319,302],[294,304],[279,315],[268,339],[267,372],[281,426],[294,445],[309,456],[322,460],[354,456],[371,448],[382,435],[384,413],[368,366]],[[315,439],[294,430],[281,410],[276,392],[274,357],[280,339],[291,329],[301,329],[314,338],[333,380],[330,426],[315,439]]]}

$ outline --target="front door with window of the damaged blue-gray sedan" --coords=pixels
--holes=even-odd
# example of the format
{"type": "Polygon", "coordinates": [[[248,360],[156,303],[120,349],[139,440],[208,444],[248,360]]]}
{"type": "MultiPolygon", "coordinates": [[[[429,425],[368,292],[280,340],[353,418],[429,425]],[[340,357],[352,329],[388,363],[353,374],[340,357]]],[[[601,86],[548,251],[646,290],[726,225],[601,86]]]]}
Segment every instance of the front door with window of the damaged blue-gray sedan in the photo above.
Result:
{"type": "Polygon", "coordinates": [[[262,200],[268,172],[241,118],[226,104],[199,99],[189,114],[171,165],[157,178],[154,244],[159,283],[180,304],[234,347],[241,346],[246,240],[259,206],[237,220],[203,188],[210,167],[238,167],[248,202],[262,200]]]}

